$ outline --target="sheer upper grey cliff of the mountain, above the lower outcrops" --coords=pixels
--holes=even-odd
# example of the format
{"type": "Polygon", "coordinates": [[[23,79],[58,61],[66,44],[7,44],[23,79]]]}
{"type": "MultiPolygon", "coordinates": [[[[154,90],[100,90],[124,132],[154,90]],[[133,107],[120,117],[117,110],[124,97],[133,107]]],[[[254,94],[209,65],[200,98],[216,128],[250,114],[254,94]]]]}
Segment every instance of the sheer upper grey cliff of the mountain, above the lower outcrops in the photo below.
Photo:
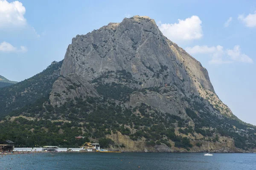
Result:
{"type": "MultiPolygon", "coordinates": [[[[171,45],[175,44],[163,36],[149,17],[125,18],[122,23],[110,23],[73,38],[61,74],[65,77],[75,73],[92,80],[103,71],[125,69],[137,80],[144,79],[143,87],[160,87],[166,83],[177,83],[181,87],[182,81],[189,81],[183,65],[186,64],[204,88],[214,91],[201,64],[175,45],[180,55],[177,57],[171,45]],[[187,63],[183,63],[184,60],[187,63]]],[[[189,90],[190,84],[193,82],[185,83],[185,88],[189,90]]]]}

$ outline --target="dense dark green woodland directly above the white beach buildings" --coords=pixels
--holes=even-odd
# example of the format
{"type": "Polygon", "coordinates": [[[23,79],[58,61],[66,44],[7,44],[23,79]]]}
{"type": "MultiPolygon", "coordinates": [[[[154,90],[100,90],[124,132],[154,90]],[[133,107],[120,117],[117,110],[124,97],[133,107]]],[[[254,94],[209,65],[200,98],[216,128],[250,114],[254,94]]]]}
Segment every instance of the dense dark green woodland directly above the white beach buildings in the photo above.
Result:
{"type": "Polygon", "coordinates": [[[0,129],[2,130],[0,139],[11,139],[15,142],[16,147],[35,147],[35,145],[78,147],[84,142],[89,142],[88,138],[75,139],[75,136],[81,135],[82,131],[81,127],[77,127],[73,122],[27,120],[20,117],[13,122],[5,121],[0,123],[0,129]]]}

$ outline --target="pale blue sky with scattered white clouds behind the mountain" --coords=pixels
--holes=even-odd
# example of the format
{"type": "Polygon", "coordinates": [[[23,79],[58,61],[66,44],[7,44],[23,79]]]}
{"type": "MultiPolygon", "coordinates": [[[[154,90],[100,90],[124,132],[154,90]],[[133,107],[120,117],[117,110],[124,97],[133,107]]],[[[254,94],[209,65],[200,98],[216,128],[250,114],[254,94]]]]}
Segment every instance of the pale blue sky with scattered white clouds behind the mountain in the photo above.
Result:
{"type": "Polygon", "coordinates": [[[255,0],[0,0],[0,75],[22,81],[61,61],[77,34],[149,16],[207,68],[219,98],[256,125],[255,0]]]}

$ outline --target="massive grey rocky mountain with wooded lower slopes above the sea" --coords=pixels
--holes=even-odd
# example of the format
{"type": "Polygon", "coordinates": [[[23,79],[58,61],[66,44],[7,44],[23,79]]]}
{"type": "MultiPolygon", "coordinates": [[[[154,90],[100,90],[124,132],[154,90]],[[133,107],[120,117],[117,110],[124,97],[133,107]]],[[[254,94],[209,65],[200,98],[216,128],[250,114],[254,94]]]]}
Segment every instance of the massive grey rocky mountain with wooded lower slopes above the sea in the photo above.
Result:
{"type": "Polygon", "coordinates": [[[215,152],[255,151],[256,127],[233,115],[207,70],[149,17],[77,35],[50,70],[42,72],[47,81],[35,81],[40,73],[17,83],[18,93],[0,89],[0,114],[9,115],[0,128],[17,128],[0,138],[22,146],[96,141],[125,151],[200,152],[210,143],[215,152]],[[37,90],[23,93],[28,87],[37,90]]]}

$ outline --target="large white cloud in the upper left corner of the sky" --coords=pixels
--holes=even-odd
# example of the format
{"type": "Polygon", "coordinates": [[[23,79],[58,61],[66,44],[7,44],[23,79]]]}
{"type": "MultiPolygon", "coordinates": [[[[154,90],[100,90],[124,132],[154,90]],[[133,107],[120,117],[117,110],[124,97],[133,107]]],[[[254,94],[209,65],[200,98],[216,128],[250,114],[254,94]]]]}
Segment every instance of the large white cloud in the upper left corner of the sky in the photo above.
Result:
{"type": "Polygon", "coordinates": [[[0,0],[0,28],[26,26],[26,8],[19,1],[0,0]]]}

